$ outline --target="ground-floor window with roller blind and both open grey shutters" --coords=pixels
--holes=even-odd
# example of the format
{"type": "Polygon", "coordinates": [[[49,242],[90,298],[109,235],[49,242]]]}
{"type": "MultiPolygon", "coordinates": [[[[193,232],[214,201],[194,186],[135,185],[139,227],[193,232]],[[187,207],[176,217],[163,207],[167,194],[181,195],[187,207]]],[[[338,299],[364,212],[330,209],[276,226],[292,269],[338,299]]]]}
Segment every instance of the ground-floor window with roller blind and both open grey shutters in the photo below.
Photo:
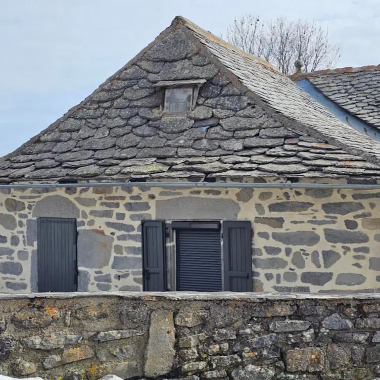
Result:
{"type": "Polygon", "coordinates": [[[142,253],[145,291],[252,291],[249,221],[142,221],[142,253]]]}

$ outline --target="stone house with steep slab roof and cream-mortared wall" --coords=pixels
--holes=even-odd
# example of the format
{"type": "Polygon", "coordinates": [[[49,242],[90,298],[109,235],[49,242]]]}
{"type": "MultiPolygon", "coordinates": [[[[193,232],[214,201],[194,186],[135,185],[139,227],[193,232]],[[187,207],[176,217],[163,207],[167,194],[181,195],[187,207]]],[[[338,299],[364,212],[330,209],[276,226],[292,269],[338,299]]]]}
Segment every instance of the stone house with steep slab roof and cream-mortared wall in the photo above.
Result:
{"type": "Polygon", "coordinates": [[[176,17],[0,160],[0,291],[378,291],[380,142],[176,17]]]}

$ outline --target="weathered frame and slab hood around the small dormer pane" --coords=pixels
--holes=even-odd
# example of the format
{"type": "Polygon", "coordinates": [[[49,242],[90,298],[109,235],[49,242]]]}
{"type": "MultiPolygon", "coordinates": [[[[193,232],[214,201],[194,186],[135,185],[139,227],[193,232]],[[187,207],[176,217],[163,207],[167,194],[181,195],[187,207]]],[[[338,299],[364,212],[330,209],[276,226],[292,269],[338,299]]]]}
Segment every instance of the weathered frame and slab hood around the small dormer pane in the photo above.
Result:
{"type": "Polygon", "coordinates": [[[153,85],[153,87],[161,88],[164,90],[163,95],[163,113],[166,115],[176,116],[176,115],[186,115],[188,112],[191,112],[196,105],[196,101],[198,100],[199,89],[206,83],[205,79],[190,79],[190,80],[182,80],[182,81],[160,81],[153,85]],[[167,90],[174,89],[189,89],[191,90],[190,97],[190,109],[182,112],[171,112],[167,109],[168,101],[167,95],[169,92],[167,90]]]}

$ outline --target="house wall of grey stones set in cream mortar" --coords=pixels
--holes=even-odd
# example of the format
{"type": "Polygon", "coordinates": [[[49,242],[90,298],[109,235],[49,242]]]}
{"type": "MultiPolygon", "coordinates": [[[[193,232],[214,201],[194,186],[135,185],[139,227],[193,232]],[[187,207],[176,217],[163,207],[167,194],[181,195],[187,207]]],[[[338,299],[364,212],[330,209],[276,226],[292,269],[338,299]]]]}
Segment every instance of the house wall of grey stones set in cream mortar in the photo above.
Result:
{"type": "MultiPolygon", "coordinates": [[[[378,291],[379,199],[336,189],[1,190],[0,291],[37,291],[39,216],[77,219],[79,291],[141,290],[141,220],[178,218],[250,220],[256,291],[378,291]]],[[[174,244],[171,234],[173,290],[174,244]]]]}

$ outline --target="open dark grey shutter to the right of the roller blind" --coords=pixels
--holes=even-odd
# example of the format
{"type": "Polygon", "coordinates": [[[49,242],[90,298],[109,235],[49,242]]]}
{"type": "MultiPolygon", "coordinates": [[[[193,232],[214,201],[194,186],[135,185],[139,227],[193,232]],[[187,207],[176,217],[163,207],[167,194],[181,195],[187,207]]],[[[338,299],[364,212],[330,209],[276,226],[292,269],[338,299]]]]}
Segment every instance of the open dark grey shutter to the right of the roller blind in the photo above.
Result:
{"type": "Polygon", "coordinates": [[[223,222],[225,291],[252,291],[251,222],[223,222]]]}

